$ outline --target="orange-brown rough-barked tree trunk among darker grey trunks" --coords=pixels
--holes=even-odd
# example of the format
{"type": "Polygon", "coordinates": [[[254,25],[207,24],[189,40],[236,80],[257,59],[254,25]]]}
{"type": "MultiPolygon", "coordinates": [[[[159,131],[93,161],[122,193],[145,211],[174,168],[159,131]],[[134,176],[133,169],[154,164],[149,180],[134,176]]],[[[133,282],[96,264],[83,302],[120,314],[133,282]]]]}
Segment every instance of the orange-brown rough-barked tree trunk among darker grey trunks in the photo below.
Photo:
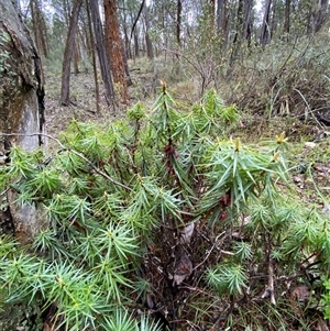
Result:
{"type": "Polygon", "coordinates": [[[128,84],[125,79],[125,67],[121,49],[121,38],[119,34],[119,23],[117,16],[116,0],[103,0],[106,16],[106,45],[110,58],[113,81],[119,84],[121,89],[121,99],[128,103],[128,84]]]}

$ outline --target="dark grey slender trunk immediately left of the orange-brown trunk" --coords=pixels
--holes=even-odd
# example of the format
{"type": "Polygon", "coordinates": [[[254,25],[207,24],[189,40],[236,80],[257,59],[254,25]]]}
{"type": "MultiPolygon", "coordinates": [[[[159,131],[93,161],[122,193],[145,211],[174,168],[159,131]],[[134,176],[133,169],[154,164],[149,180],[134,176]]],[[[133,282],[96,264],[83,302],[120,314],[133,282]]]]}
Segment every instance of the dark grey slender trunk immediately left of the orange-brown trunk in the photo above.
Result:
{"type": "Polygon", "coordinates": [[[96,38],[96,47],[100,62],[100,69],[102,75],[102,80],[106,88],[106,99],[109,107],[112,107],[113,111],[116,110],[116,100],[114,100],[114,90],[111,78],[110,64],[107,56],[107,49],[105,45],[105,35],[102,30],[102,22],[100,19],[100,11],[98,1],[89,0],[89,8],[91,13],[91,21],[94,27],[94,34],[96,38]]]}

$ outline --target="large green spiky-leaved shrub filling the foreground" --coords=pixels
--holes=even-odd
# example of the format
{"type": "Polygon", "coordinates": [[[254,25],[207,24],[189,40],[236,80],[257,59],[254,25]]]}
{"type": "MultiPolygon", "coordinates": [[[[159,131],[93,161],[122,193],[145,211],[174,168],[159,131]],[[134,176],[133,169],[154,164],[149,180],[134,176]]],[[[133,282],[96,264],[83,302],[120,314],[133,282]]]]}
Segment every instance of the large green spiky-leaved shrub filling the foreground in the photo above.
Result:
{"type": "Polygon", "coordinates": [[[213,90],[185,108],[164,84],[150,111],[73,121],[50,155],[13,146],[1,187],[48,225],[1,239],[3,302],[67,330],[304,324],[292,290],[328,276],[328,223],[287,198],[284,133],[248,146],[226,137],[238,121],[213,90]]]}

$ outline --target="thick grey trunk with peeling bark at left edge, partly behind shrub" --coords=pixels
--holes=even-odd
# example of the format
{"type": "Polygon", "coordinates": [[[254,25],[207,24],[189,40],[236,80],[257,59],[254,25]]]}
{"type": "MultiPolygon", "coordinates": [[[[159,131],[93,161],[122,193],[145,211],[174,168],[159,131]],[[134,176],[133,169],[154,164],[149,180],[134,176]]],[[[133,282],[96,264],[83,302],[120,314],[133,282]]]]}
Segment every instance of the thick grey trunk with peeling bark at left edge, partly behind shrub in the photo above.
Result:
{"type": "MultiPolygon", "coordinates": [[[[44,124],[44,87],[41,59],[11,1],[0,0],[0,158],[12,145],[32,151],[41,145],[44,124]]],[[[14,203],[14,192],[0,196],[0,234],[13,232],[28,242],[42,224],[31,206],[14,203]]]]}

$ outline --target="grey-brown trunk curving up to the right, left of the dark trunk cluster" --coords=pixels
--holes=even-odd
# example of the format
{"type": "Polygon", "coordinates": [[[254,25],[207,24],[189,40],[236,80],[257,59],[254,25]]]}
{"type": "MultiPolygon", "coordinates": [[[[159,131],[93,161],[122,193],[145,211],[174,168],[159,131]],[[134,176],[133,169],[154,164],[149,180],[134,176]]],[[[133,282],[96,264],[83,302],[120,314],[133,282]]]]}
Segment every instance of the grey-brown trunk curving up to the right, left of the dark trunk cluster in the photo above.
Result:
{"type": "Polygon", "coordinates": [[[82,0],[76,0],[74,3],[69,30],[66,40],[63,67],[62,67],[62,88],[61,88],[61,104],[68,106],[69,100],[69,86],[70,86],[70,64],[74,55],[75,38],[78,30],[78,18],[81,9],[82,0]]]}

